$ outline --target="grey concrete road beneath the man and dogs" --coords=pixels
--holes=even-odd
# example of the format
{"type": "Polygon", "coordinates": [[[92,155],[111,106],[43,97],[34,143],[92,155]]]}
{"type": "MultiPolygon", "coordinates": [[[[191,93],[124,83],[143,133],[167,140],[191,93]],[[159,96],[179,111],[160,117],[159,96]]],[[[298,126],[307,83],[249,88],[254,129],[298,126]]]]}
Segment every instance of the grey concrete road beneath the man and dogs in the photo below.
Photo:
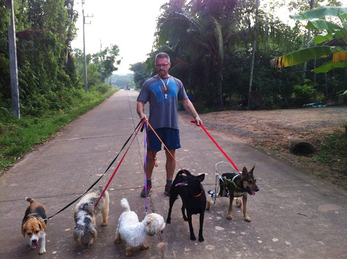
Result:
{"type": "MultiPolygon", "coordinates": [[[[139,218],[145,216],[145,200],[139,196],[144,181],[142,134],[131,146],[109,187],[109,225],[101,227],[98,218],[99,238],[92,247],[83,250],[73,241],[73,206],[49,220],[47,253],[42,256],[38,251],[30,251],[20,225],[28,206],[25,197],[43,203],[52,215],[104,172],[139,122],[137,94],[117,92],[1,177],[0,258],[125,258],[124,244],[114,244],[122,212],[120,200],[126,197],[139,218]]],[[[179,123],[182,148],[177,151],[178,162],[192,173],[207,174],[203,182],[205,190],[214,188],[215,164],[226,158],[187,118],[180,117],[179,123]]],[[[211,133],[238,167],[250,169],[256,165],[254,174],[260,191],[248,198],[247,206],[252,222],[243,220],[239,208],[234,209],[233,219],[227,220],[229,201],[218,198],[205,213],[205,241],[190,241],[179,200],[173,207],[172,223],[163,234],[150,237],[150,249],[136,250],[134,258],[347,258],[345,191],[248,144],[211,133]]],[[[159,152],[149,210],[166,218],[169,198],[164,195],[164,158],[164,153],[159,152]]],[[[102,185],[105,186],[113,171],[110,169],[101,180],[102,185]]],[[[218,167],[220,174],[228,171],[230,168],[223,164],[218,167]]],[[[193,216],[196,234],[198,221],[198,216],[193,216]]]]}

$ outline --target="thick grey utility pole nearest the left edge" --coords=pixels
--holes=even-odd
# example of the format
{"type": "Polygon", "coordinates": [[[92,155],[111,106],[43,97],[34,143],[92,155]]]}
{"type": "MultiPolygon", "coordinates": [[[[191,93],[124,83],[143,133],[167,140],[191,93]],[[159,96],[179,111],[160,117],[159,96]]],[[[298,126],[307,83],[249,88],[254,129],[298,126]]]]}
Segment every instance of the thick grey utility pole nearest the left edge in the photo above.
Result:
{"type": "Polygon", "coordinates": [[[6,7],[11,12],[11,22],[8,25],[8,50],[9,50],[9,70],[11,76],[11,99],[12,115],[20,118],[19,111],[19,91],[18,91],[18,68],[16,51],[16,30],[14,25],[13,0],[6,0],[6,7]]]}

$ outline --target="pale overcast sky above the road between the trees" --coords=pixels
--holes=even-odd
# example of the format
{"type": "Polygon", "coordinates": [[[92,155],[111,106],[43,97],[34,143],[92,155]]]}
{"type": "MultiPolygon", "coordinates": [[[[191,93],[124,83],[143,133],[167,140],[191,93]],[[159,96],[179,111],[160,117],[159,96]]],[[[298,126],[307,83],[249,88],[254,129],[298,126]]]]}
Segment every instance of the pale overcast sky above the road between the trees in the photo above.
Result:
{"type": "MultiPolygon", "coordinates": [[[[116,74],[129,73],[129,65],[144,61],[152,51],[156,20],[160,6],[167,0],[85,0],[86,53],[100,51],[100,40],[104,49],[116,44],[120,49],[121,64],[116,74]]],[[[74,9],[78,11],[76,22],[77,38],[72,49],[83,50],[83,22],[81,0],[75,0],[74,9]]]]}

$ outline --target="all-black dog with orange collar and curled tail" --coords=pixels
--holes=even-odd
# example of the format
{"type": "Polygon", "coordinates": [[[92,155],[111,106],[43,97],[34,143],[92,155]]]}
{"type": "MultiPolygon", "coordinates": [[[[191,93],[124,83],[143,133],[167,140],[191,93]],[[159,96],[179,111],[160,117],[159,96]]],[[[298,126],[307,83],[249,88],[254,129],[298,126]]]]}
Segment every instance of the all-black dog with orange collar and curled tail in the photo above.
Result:
{"type": "Polygon", "coordinates": [[[190,230],[190,240],[196,240],[193,225],[191,223],[192,214],[200,214],[200,228],[199,228],[199,241],[204,241],[202,236],[202,225],[204,224],[204,213],[206,208],[206,195],[201,182],[205,179],[205,174],[200,174],[199,176],[192,175],[187,170],[180,170],[173,180],[173,184],[170,191],[170,208],[168,218],[166,223],[171,223],[171,210],[174,201],[177,199],[178,195],[182,199],[182,214],[183,219],[188,221],[190,230]],[[186,176],[182,175],[186,173],[186,176]],[[185,211],[187,210],[187,216],[185,216],[185,211]]]}

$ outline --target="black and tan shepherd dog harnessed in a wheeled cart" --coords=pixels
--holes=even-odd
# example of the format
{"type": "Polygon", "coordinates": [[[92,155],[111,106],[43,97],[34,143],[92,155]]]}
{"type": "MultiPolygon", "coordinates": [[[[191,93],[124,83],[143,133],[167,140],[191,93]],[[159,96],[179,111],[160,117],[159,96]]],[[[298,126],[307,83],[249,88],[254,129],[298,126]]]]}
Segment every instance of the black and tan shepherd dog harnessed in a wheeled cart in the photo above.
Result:
{"type": "Polygon", "coordinates": [[[255,195],[255,192],[259,191],[258,186],[256,185],[256,179],[253,175],[254,167],[247,171],[246,167],[243,167],[241,174],[236,173],[224,173],[222,179],[219,180],[220,183],[220,192],[221,197],[226,196],[226,192],[229,191],[229,210],[228,210],[228,219],[232,219],[232,201],[234,197],[241,197],[243,202],[243,216],[247,222],[250,222],[251,219],[247,215],[247,194],[255,195]]]}

